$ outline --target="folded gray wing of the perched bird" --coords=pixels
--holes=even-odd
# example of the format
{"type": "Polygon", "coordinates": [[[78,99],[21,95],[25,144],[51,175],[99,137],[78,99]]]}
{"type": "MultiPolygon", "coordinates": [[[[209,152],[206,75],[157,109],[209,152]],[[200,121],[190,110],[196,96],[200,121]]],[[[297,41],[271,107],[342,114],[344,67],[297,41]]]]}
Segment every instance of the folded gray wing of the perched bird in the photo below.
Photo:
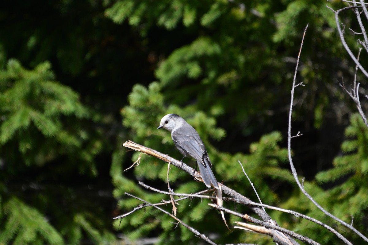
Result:
{"type": "Polygon", "coordinates": [[[205,167],[208,164],[212,168],[204,143],[192,126],[189,125],[189,127],[174,130],[171,137],[181,153],[184,151],[184,153],[197,160],[198,163],[205,167]]]}

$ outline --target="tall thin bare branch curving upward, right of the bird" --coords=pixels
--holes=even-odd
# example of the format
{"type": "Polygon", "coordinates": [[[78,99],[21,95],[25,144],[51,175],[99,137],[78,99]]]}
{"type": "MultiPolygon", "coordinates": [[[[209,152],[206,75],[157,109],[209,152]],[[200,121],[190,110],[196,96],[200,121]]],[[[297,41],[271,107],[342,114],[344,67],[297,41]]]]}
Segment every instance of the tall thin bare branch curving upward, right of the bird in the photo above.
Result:
{"type": "MultiPolygon", "coordinates": [[[[363,238],[365,241],[368,242],[368,238],[366,238],[364,235],[362,235],[358,230],[356,230],[352,225],[347,224],[346,222],[344,222],[343,220],[340,220],[339,218],[333,216],[332,214],[330,214],[328,211],[326,211],[325,209],[323,209],[323,207],[321,205],[319,205],[313,198],[311,195],[309,195],[309,193],[304,189],[304,184],[302,184],[299,181],[299,177],[297,174],[297,171],[294,167],[293,164],[293,159],[291,157],[291,115],[293,112],[293,103],[294,103],[294,91],[296,88],[296,76],[297,76],[297,71],[298,71],[298,65],[299,65],[299,60],[300,60],[300,54],[301,54],[301,50],[303,47],[303,41],[304,41],[304,36],[305,33],[307,32],[307,28],[308,28],[308,24],[305,27],[304,30],[304,34],[302,37],[302,41],[301,41],[301,45],[300,45],[300,50],[299,50],[299,54],[298,54],[298,59],[297,59],[297,64],[296,64],[296,69],[295,69],[295,73],[294,73],[294,78],[293,78],[293,85],[291,88],[291,101],[290,101],[290,109],[289,109],[289,125],[288,125],[288,156],[289,156],[289,162],[290,162],[290,167],[291,167],[291,171],[293,173],[294,179],[297,183],[297,185],[299,186],[300,190],[302,191],[302,193],[308,197],[309,200],[311,200],[311,202],[313,204],[315,204],[316,207],[318,207],[318,209],[320,209],[323,213],[325,213],[327,216],[329,216],[330,218],[333,218],[334,220],[338,221],[339,223],[341,223],[342,225],[348,227],[350,230],[353,230],[356,234],[358,234],[361,238],[363,238]]],[[[355,58],[355,57],[354,57],[355,58]]],[[[340,239],[342,239],[346,244],[352,245],[350,241],[348,241],[345,237],[343,237],[341,234],[336,234],[337,237],[339,237],[340,239]]]]}

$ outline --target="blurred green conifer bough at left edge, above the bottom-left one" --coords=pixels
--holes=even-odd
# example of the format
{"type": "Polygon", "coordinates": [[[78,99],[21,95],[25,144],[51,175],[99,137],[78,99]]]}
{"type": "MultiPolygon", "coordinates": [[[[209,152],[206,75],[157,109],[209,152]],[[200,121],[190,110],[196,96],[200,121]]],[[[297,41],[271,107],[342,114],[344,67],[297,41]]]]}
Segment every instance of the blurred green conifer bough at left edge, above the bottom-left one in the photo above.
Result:
{"type": "MultiPolygon", "coordinates": [[[[53,81],[49,63],[26,70],[16,60],[9,60],[0,76],[0,142],[3,147],[18,145],[20,155],[14,160],[21,158],[27,165],[42,166],[59,154],[71,154],[81,147],[88,138],[85,130],[65,127],[63,122],[68,117],[90,118],[91,114],[74,91],[53,81]],[[59,147],[50,147],[55,145],[59,147]]],[[[100,143],[90,147],[88,155],[80,153],[81,159],[91,158],[99,151],[100,143]]],[[[93,165],[91,171],[95,172],[93,165]]]]}

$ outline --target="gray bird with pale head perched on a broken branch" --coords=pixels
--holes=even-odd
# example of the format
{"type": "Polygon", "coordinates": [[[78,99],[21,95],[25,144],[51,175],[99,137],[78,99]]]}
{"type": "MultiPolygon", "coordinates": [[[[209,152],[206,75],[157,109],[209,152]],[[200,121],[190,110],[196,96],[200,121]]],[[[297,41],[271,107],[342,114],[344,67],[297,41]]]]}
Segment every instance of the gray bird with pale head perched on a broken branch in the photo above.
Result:
{"type": "MultiPolygon", "coordinates": [[[[171,138],[173,139],[176,148],[184,155],[184,157],[189,155],[197,160],[199,172],[201,173],[205,185],[208,188],[213,186],[214,188],[219,189],[215,175],[213,175],[211,170],[211,161],[209,160],[206,148],[197,131],[183,118],[176,114],[167,114],[164,116],[157,129],[162,127],[171,132],[171,138]]],[[[181,159],[181,161],[183,161],[183,159],[181,159]]]]}

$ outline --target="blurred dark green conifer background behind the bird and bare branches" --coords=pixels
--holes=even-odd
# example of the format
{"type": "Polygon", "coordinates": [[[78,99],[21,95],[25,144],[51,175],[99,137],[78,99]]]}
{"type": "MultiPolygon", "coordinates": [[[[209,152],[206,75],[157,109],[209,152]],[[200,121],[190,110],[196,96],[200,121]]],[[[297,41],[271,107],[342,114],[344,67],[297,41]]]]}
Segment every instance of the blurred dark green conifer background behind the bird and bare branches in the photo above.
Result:
{"type": "MultiPolygon", "coordinates": [[[[197,129],[218,181],[256,201],[329,224],[355,244],[362,239],[326,218],[301,194],[287,160],[290,90],[302,32],[309,23],[292,118],[294,164],[326,210],[368,235],[368,130],[340,88],[355,65],[342,47],[340,1],[312,0],[5,0],[0,8],[0,244],[201,244],[160,211],[112,218],[140,202],[160,202],[138,180],[167,188],[167,164],[143,155],[123,170],[139,144],[181,159],[170,133],[156,130],[167,113],[197,129]],[[150,244],[150,243],[146,243],[150,244]]],[[[357,53],[352,11],[342,14],[357,53]]],[[[367,67],[367,56],[361,55],[367,67]]],[[[358,73],[361,88],[367,78],[358,73]]],[[[367,99],[361,96],[367,109],[367,99]]],[[[189,158],[185,162],[194,166],[189,158]]],[[[205,189],[170,169],[171,188],[205,189]]],[[[185,200],[178,218],[217,244],[273,244],[229,231],[207,200],[185,200]]],[[[225,207],[255,216],[243,206],[225,207]]],[[[171,212],[171,206],[164,207],[171,212]]],[[[280,226],[321,244],[340,244],[322,227],[268,211],[280,226]]],[[[240,219],[226,217],[228,224],[240,219]]]]}

